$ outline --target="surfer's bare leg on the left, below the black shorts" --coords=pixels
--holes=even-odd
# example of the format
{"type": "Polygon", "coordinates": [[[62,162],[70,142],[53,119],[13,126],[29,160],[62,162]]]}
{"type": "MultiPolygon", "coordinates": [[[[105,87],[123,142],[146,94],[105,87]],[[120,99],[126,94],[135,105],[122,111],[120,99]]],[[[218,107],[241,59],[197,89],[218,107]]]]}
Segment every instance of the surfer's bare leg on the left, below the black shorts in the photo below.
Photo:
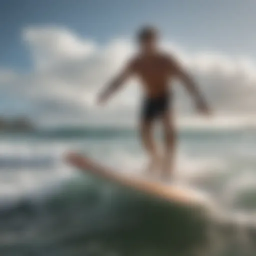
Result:
{"type": "Polygon", "coordinates": [[[141,134],[142,144],[146,149],[150,158],[148,171],[152,172],[158,167],[158,164],[159,164],[159,155],[158,155],[158,151],[157,151],[154,136],[153,136],[152,120],[141,121],[140,134],[141,134]]]}

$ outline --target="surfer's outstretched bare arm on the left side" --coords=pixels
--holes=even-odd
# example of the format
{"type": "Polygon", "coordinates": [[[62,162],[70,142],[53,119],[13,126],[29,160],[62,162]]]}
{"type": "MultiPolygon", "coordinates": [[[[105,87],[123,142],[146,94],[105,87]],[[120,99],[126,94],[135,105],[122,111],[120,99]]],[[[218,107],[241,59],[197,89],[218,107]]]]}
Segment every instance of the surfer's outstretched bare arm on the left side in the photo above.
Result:
{"type": "Polygon", "coordinates": [[[134,70],[134,63],[130,62],[126,67],[105,87],[99,94],[98,102],[104,103],[120,86],[131,76],[134,70]]]}

